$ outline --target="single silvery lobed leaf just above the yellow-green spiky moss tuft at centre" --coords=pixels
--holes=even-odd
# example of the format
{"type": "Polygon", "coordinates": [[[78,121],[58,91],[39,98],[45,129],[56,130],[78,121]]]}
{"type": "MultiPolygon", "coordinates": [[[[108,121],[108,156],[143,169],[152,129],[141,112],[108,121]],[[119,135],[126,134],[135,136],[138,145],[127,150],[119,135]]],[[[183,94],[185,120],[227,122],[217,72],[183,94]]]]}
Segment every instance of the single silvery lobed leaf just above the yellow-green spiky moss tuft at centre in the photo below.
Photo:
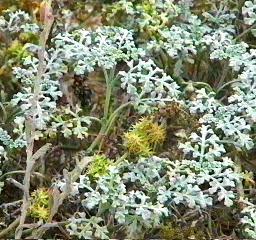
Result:
{"type": "Polygon", "coordinates": [[[177,83],[151,60],[130,61],[129,70],[120,71],[121,87],[127,91],[140,112],[150,106],[164,106],[176,101],[180,90],[177,83]]]}

